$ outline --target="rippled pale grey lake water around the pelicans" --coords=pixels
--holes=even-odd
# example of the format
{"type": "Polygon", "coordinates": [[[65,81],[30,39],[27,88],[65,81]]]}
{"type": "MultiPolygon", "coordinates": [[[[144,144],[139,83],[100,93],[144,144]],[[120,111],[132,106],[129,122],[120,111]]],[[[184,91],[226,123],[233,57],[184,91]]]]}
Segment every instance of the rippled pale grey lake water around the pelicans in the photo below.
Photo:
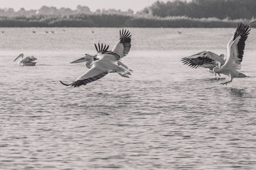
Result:
{"type": "Polygon", "coordinates": [[[256,29],[242,67],[251,77],[228,86],[180,58],[226,53],[234,29],[131,28],[131,78],[111,73],[79,88],[59,82],[86,71],[68,63],[98,41],[113,46],[118,29],[1,30],[0,169],[255,168],[256,29]],[[37,65],[12,62],[21,52],[37,65]]]}

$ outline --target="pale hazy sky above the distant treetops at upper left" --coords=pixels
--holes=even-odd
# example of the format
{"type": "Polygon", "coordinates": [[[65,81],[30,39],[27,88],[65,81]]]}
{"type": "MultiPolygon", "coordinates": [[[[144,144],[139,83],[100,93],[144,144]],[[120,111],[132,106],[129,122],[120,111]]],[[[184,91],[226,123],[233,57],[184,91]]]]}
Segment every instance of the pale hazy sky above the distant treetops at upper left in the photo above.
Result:
{"type": "MultiPolygon", "coordinates": [[[[81,4],[88,6],[92,11],[102,8],[115,8],[120,10],[128,10],[131,8],[134,11],[142,10],[146,6],[154,3],[157,0],[1,0],[0,8],[13,8],[15,11],[20,8],[26,10],[39,9],[41,6],[56,6],[57,8],[66,7],[76,9],[76,6],[81,4]]],[[[170,0],[161,0],[170,1],[170,0]]],[[[172,1],[172,0],[171,0],[172,1]]]]}

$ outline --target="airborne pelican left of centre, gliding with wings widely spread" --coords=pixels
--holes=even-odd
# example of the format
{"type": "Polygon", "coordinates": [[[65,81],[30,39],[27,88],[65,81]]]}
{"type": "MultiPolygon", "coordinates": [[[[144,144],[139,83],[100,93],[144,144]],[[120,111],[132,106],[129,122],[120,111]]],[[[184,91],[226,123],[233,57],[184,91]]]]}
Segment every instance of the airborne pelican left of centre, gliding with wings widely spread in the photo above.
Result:
{"type": "Polygon", "coordinates": [[[121,76],[129,77],[127,74],[131,73],[124,68],[120,59],[125,57],[131,49],[131,32],[122,29],[122,31],[119,31],[119,34],[120,37],[111,51],[108,51],[109,46],[103,46],[103,44],[100,46],[98,43],[98,47],[95,45],[98,52],[97,55],[93,56],[86,54],[83,58],[72,62],[86,62],[86,67],[89,67],[90,69],[79,76],[74,82],[66,84],[60,81],[61,84],[71,87],[79,87],[91,83],[92,81],[99,80],[106,76],[106,74],[114,72],[121,76]],[[96,61],[93,62],[93,60],[96,61]]]}

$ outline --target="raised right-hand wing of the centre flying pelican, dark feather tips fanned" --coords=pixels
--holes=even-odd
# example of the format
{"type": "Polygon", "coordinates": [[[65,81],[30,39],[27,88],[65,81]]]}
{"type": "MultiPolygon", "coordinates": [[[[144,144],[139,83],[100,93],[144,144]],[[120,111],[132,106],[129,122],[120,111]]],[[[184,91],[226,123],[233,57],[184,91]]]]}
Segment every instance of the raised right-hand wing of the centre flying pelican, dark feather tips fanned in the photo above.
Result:
{"type": "Polygon", "coordinates": [[[120,38],[112,49],[112,52],[116,53],[117,60],[125,57],[131,50],[131,32],[122,29],[122,31],[119,31],[119,34],[120,38]]]}

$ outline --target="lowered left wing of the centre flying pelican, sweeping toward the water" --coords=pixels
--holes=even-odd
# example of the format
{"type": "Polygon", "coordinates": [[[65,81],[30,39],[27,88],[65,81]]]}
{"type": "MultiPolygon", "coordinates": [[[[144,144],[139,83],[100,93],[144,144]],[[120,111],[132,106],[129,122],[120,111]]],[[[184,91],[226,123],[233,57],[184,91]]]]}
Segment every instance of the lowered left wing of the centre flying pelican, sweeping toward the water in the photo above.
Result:
{"type": "Polygon", "coordinates": [[[108,74],[108,71],[102,71],[101,69],[98,69],[97,67],[92,67],[86,73],[83,75],[79,76],[76,81],[66,84],[63,83],[62,81],[61,84],[66,85],[66,86],[71,86],[71,87],[79,87],[81,85],[86,85],[88,83],[91,83],[92,81],[99,80],[100,78],[106,76],[108,74]]]}

